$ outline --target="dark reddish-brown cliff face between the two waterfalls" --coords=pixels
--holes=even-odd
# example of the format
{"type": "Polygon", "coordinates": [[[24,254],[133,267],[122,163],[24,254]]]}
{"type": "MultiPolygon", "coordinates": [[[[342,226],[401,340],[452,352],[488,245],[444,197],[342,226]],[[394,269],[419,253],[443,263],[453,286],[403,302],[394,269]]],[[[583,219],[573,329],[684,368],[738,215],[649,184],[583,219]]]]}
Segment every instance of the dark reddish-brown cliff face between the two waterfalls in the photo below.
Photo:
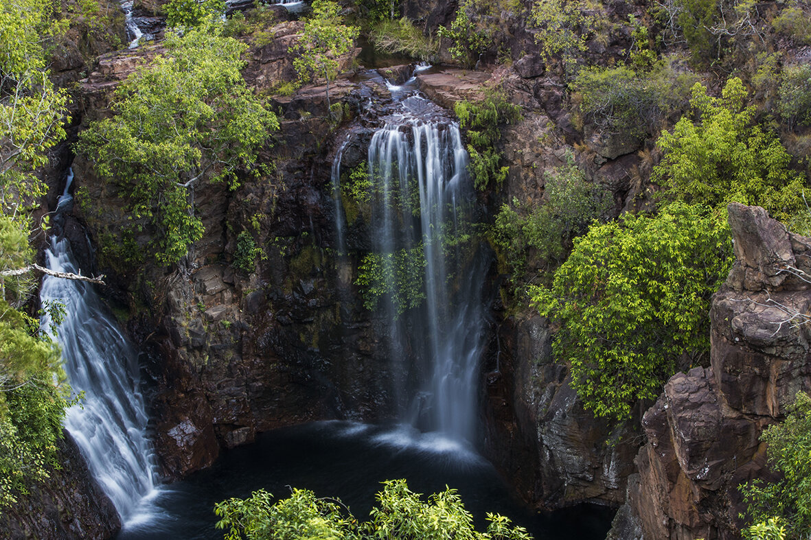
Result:
{"type": "MultiPolygon", "coordinates": [[[[287,49],[301,26],[279,24],[274,41],[251,51],[249,84],[261,90],[290,79],[287,49]]],[[[109,90],[139,57],[158,52],[139,48],[102,58],[84,82],[92,114],[104,114],[109,90]]],[[[281,131],[260,158],[272,174],[234,192],[221,185],[196,190],[205,235],[180,268],[116,264],[105,246],[127,223],[125,202],[83,156],[74,161],[75,212],[101,246],[102,271],[113,284],[109,298],[129,311],[131,333],[150,358],[156,448],[169,476],[210,465],[221,448],[277,426],[393,414],[393,376],[378,337],[387,335],[384,321],[363,308],[354,290],[357,261],[336,256],[330,185],[334,153],[348,136],[345,168],[365,161],[366,117],[377,122],[379,114],[365,111],[384,107],[388,91],[382,79],[333,83],[333,104],[345,106],[342,118],[330,121],[324,90],[273,98],[281,131]],[[245,230],[264,253],[252,272],[234,266],[236,239],[245,230]]],[[[368,243],[363,227],[359,220],[348,231],[350,249],[368,243]]]]}

